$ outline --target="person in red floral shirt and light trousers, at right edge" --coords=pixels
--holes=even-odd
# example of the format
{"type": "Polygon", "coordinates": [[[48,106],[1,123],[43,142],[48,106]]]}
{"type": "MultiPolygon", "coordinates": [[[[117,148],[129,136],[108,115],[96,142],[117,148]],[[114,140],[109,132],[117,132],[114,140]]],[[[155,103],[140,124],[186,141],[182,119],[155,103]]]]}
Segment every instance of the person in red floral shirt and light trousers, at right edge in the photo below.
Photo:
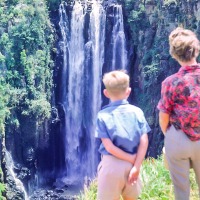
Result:
{"type": "Polygon", "coordinates": [[[200,42],[195,33],[176,28],[169,35],[179,71],[162,82],[159,123],[176,200],[189,200],[190,167],[200,188],[200,42]]]}

